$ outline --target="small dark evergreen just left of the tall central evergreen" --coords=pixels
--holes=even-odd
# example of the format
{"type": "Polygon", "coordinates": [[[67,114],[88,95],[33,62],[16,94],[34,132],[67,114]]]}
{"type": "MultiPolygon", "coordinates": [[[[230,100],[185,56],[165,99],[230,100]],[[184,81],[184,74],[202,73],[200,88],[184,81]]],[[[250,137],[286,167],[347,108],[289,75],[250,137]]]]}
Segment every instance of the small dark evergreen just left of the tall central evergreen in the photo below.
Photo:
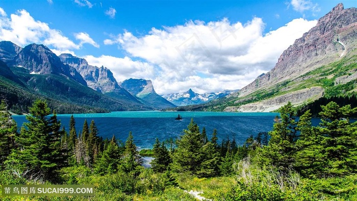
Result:
{"type": "Polygon", "coordinates": [[[171,163],[171,157],[164,142],[160,143],[159,139],[156,138],[152,152],[154,152],[154,159],[150,163],[152,170],[154,172],[166,171],[171,163]]]}

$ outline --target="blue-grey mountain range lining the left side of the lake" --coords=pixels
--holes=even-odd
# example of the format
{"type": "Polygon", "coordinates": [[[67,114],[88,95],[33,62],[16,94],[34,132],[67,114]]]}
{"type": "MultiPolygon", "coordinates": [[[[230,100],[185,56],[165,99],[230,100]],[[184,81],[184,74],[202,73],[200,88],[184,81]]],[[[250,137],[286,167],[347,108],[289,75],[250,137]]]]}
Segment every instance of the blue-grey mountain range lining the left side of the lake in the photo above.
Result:
{"type": "Polygon", "coordinates": [[[46,99],[58,113],[176,107],[155,92],[150,80],[118,83],[108,68],[89,65],[71,54],[57,56],[41,44],[22,48],[1,41],[0,78],[0,97],[16,113],[27,113],[36,98],[46,99]]]}

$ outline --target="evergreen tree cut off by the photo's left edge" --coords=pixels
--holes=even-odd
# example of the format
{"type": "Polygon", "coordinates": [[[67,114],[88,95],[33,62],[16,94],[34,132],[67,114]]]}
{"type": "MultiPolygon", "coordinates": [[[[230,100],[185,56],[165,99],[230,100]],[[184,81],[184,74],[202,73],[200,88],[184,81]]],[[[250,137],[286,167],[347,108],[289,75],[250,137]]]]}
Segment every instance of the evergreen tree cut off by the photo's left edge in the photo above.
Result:
{"type": "Polygon", "coordinates": [[[17,133],[17,124],[8,111],[4,100],[0,104],[0,170],[14,147],[14,137],[17,133]]]}

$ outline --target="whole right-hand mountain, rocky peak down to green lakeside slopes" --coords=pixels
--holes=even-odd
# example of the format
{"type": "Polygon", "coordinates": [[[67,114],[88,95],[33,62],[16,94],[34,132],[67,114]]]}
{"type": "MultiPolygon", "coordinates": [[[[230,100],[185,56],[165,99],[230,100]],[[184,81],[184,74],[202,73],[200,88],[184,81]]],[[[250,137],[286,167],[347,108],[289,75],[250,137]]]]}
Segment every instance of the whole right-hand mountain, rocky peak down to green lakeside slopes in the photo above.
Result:
{"type": "Polygon", "coordinates": [[[357,9],[338,4],[240,91],[183,110],[269,112],[291,102],[357,96],[357,9]]]}

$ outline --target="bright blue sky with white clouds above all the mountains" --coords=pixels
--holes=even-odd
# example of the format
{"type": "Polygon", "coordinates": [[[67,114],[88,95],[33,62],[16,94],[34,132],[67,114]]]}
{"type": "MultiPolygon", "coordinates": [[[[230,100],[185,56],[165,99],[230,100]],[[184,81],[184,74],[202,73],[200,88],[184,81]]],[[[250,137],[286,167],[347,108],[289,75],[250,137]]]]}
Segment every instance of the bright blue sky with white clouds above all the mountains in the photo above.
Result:
{"type": "Polygon", "coordinates": [[[160,94],[240,89],[338,3],[357,1],[0,1],[0,40],[45,44],[151,80],[160,94]]]}

